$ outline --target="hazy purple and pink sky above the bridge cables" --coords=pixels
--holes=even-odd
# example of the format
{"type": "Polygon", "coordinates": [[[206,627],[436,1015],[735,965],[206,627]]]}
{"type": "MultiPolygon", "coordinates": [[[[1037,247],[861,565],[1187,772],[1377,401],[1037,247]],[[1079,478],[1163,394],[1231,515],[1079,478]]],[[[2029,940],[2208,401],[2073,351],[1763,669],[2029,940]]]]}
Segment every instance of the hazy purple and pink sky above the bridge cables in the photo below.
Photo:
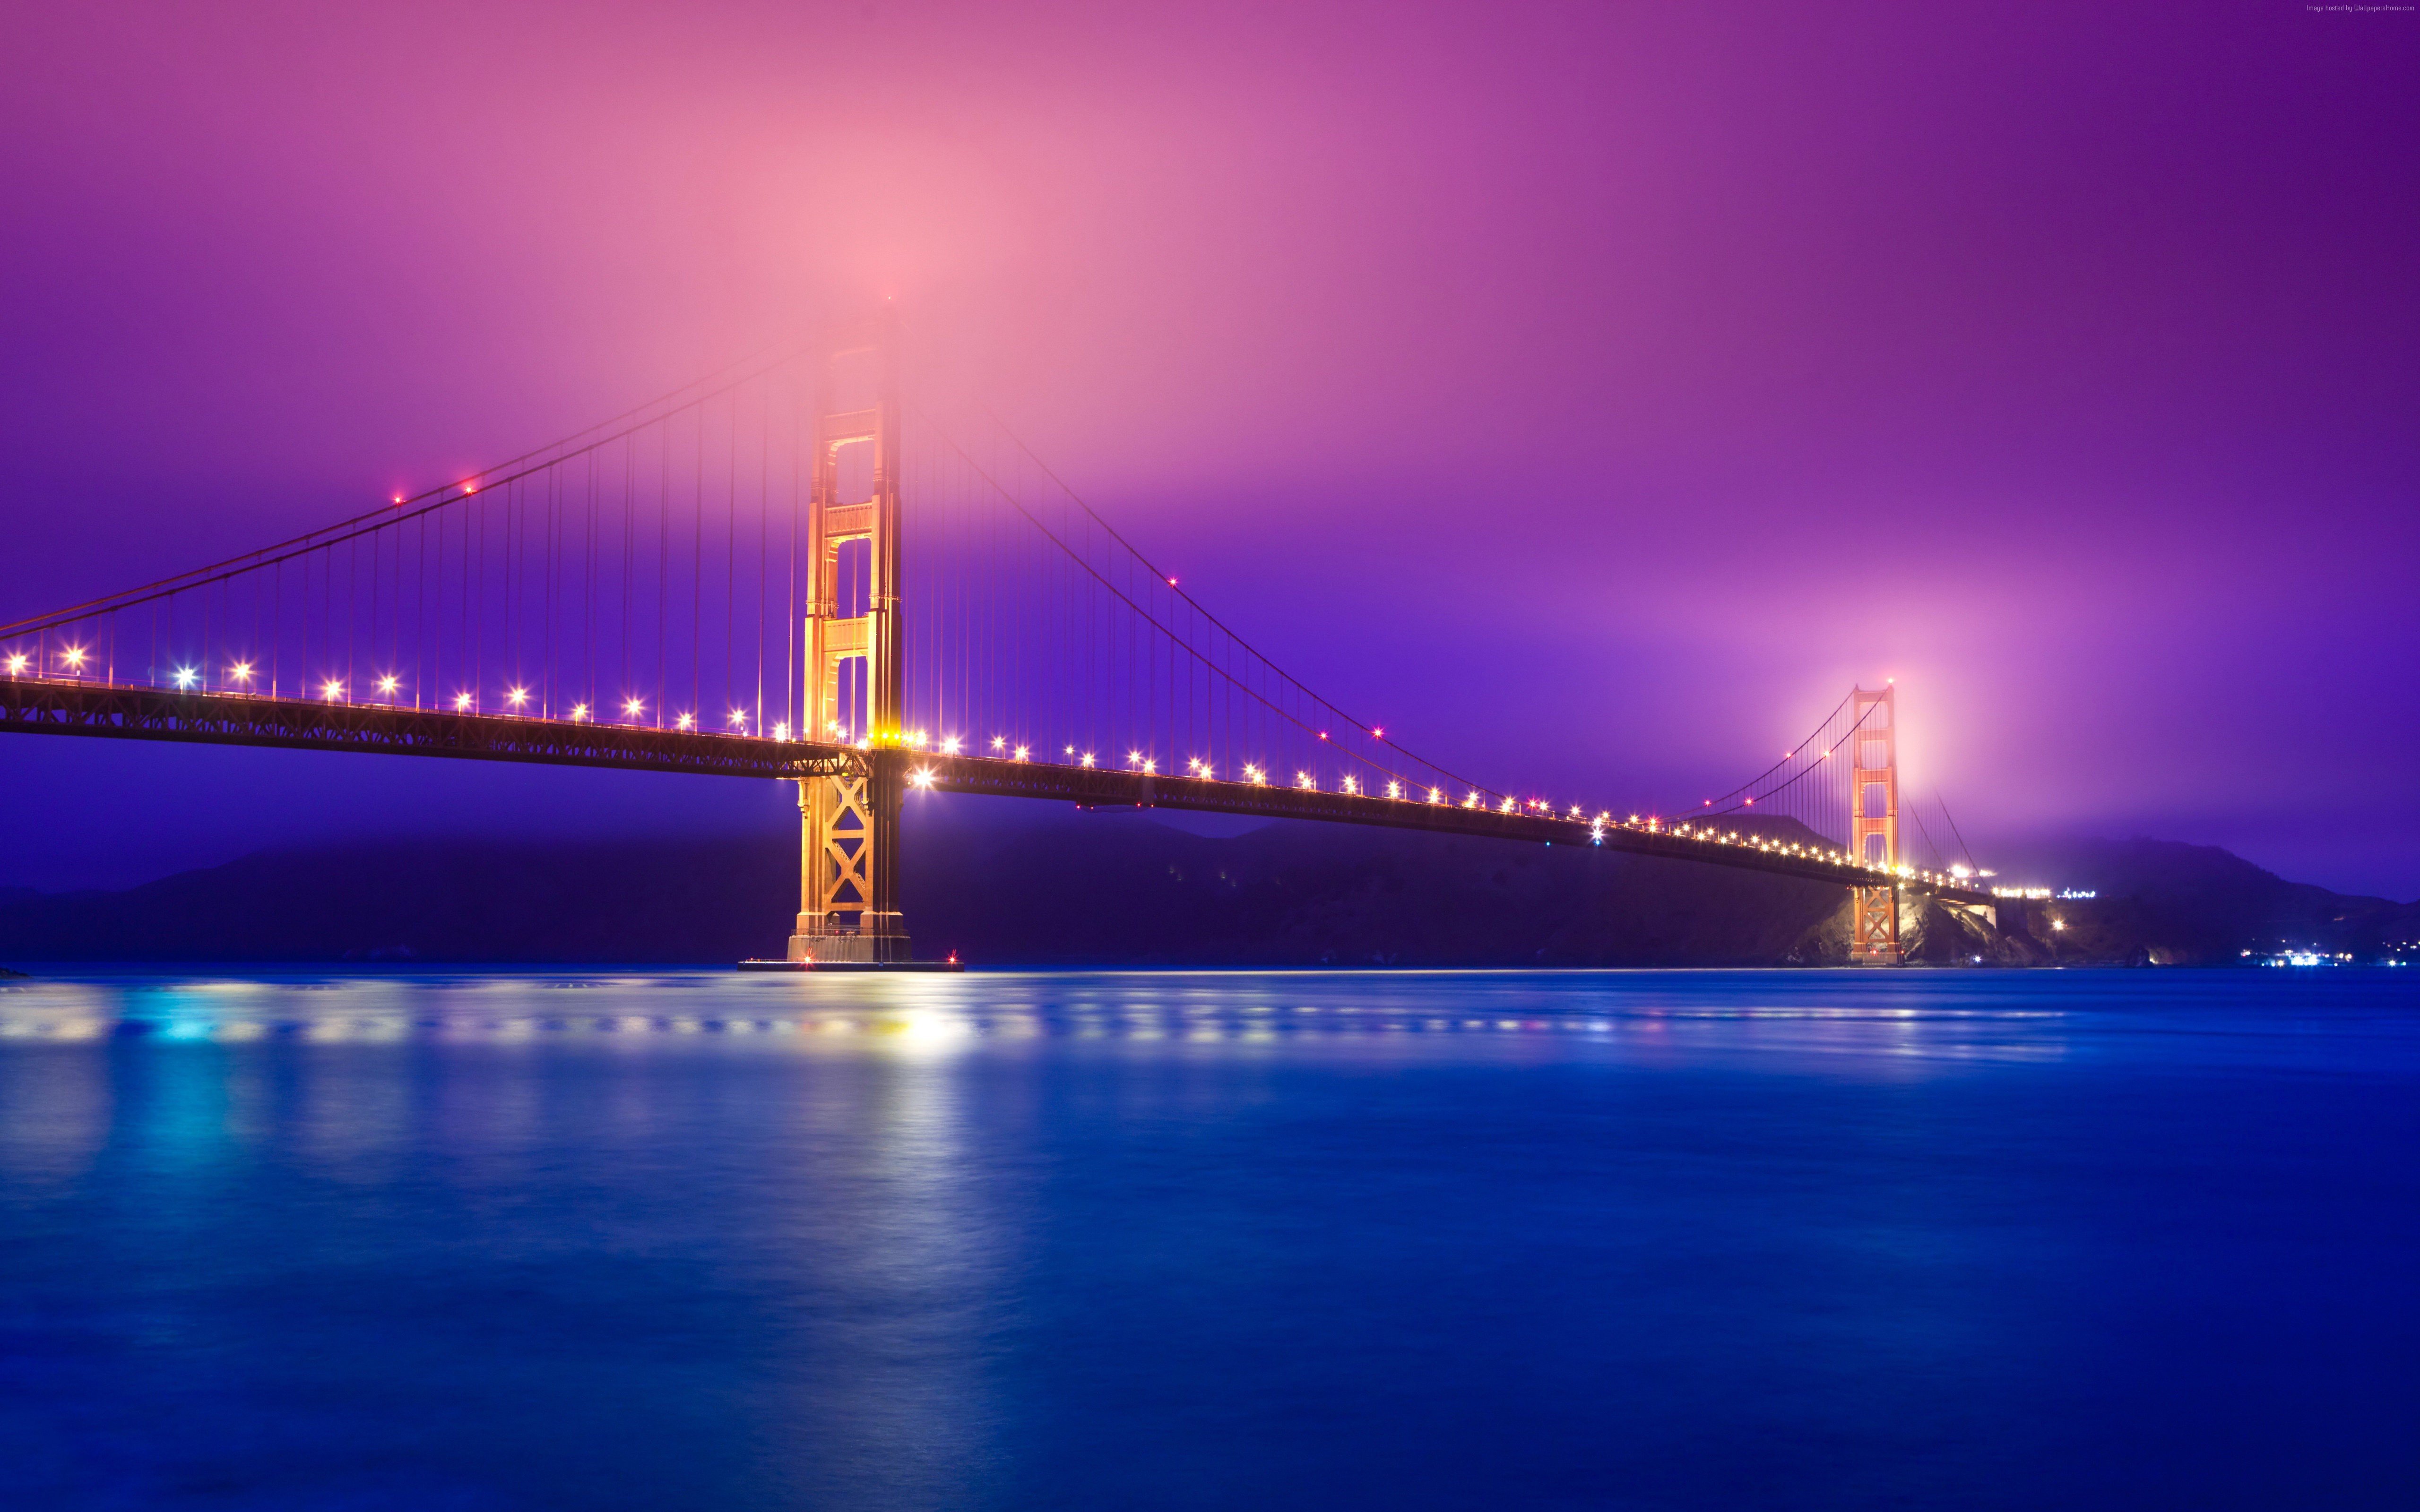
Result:
{"type": "MultiPolygon", "coordinates": [[[[1687,801],[1892,675],[1977,849],[2420,895],[2420,15],[121,5],[0,58],[0,619],[895,295],[1416,750],[1687,801]]],[[[70,740],[0,784],[56,798],[34,885],[786,813],[70,740]]]]}

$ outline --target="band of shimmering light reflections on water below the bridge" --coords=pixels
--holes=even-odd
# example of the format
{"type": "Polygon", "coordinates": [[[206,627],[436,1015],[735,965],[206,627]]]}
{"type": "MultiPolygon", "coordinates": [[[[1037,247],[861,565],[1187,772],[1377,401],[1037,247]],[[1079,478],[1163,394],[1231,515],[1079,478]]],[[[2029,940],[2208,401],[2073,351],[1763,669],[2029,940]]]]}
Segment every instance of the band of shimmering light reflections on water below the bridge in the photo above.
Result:
{"type": "Polygon", "coordinates": [[[1776,973],[1225,973],[835,975],[380,973],[148,980],[63,975],[0,992],[0,1040],[315,1045],[537,1043],[605,1035],[760,1038],[774,1048],[966,1052],[1021,1038],[1181,1043],[1375,1035],[1646,1035],[1725,1028],[1706,1045],[1796,1043],[1902,1055],[2055,1055],[2055,1038],[1996,1033],[2069,1009],[1992,1002],[1967,980],[1844,985],[1776,973]],[[1902,1002],[1914,997],[1919,1002],[1902,1002]],[[1440,1014],[1447,1006],[1454,1011],[1440,1014]],[[1486,1016],[1471,1009],[1483,1009],[1486,1016]],[[1786,1031],[1781,1026],[1796,1026],[1786,1031]],[[1897,1033],[1921,1026],[1924,1033],[1897,1033]]]}

